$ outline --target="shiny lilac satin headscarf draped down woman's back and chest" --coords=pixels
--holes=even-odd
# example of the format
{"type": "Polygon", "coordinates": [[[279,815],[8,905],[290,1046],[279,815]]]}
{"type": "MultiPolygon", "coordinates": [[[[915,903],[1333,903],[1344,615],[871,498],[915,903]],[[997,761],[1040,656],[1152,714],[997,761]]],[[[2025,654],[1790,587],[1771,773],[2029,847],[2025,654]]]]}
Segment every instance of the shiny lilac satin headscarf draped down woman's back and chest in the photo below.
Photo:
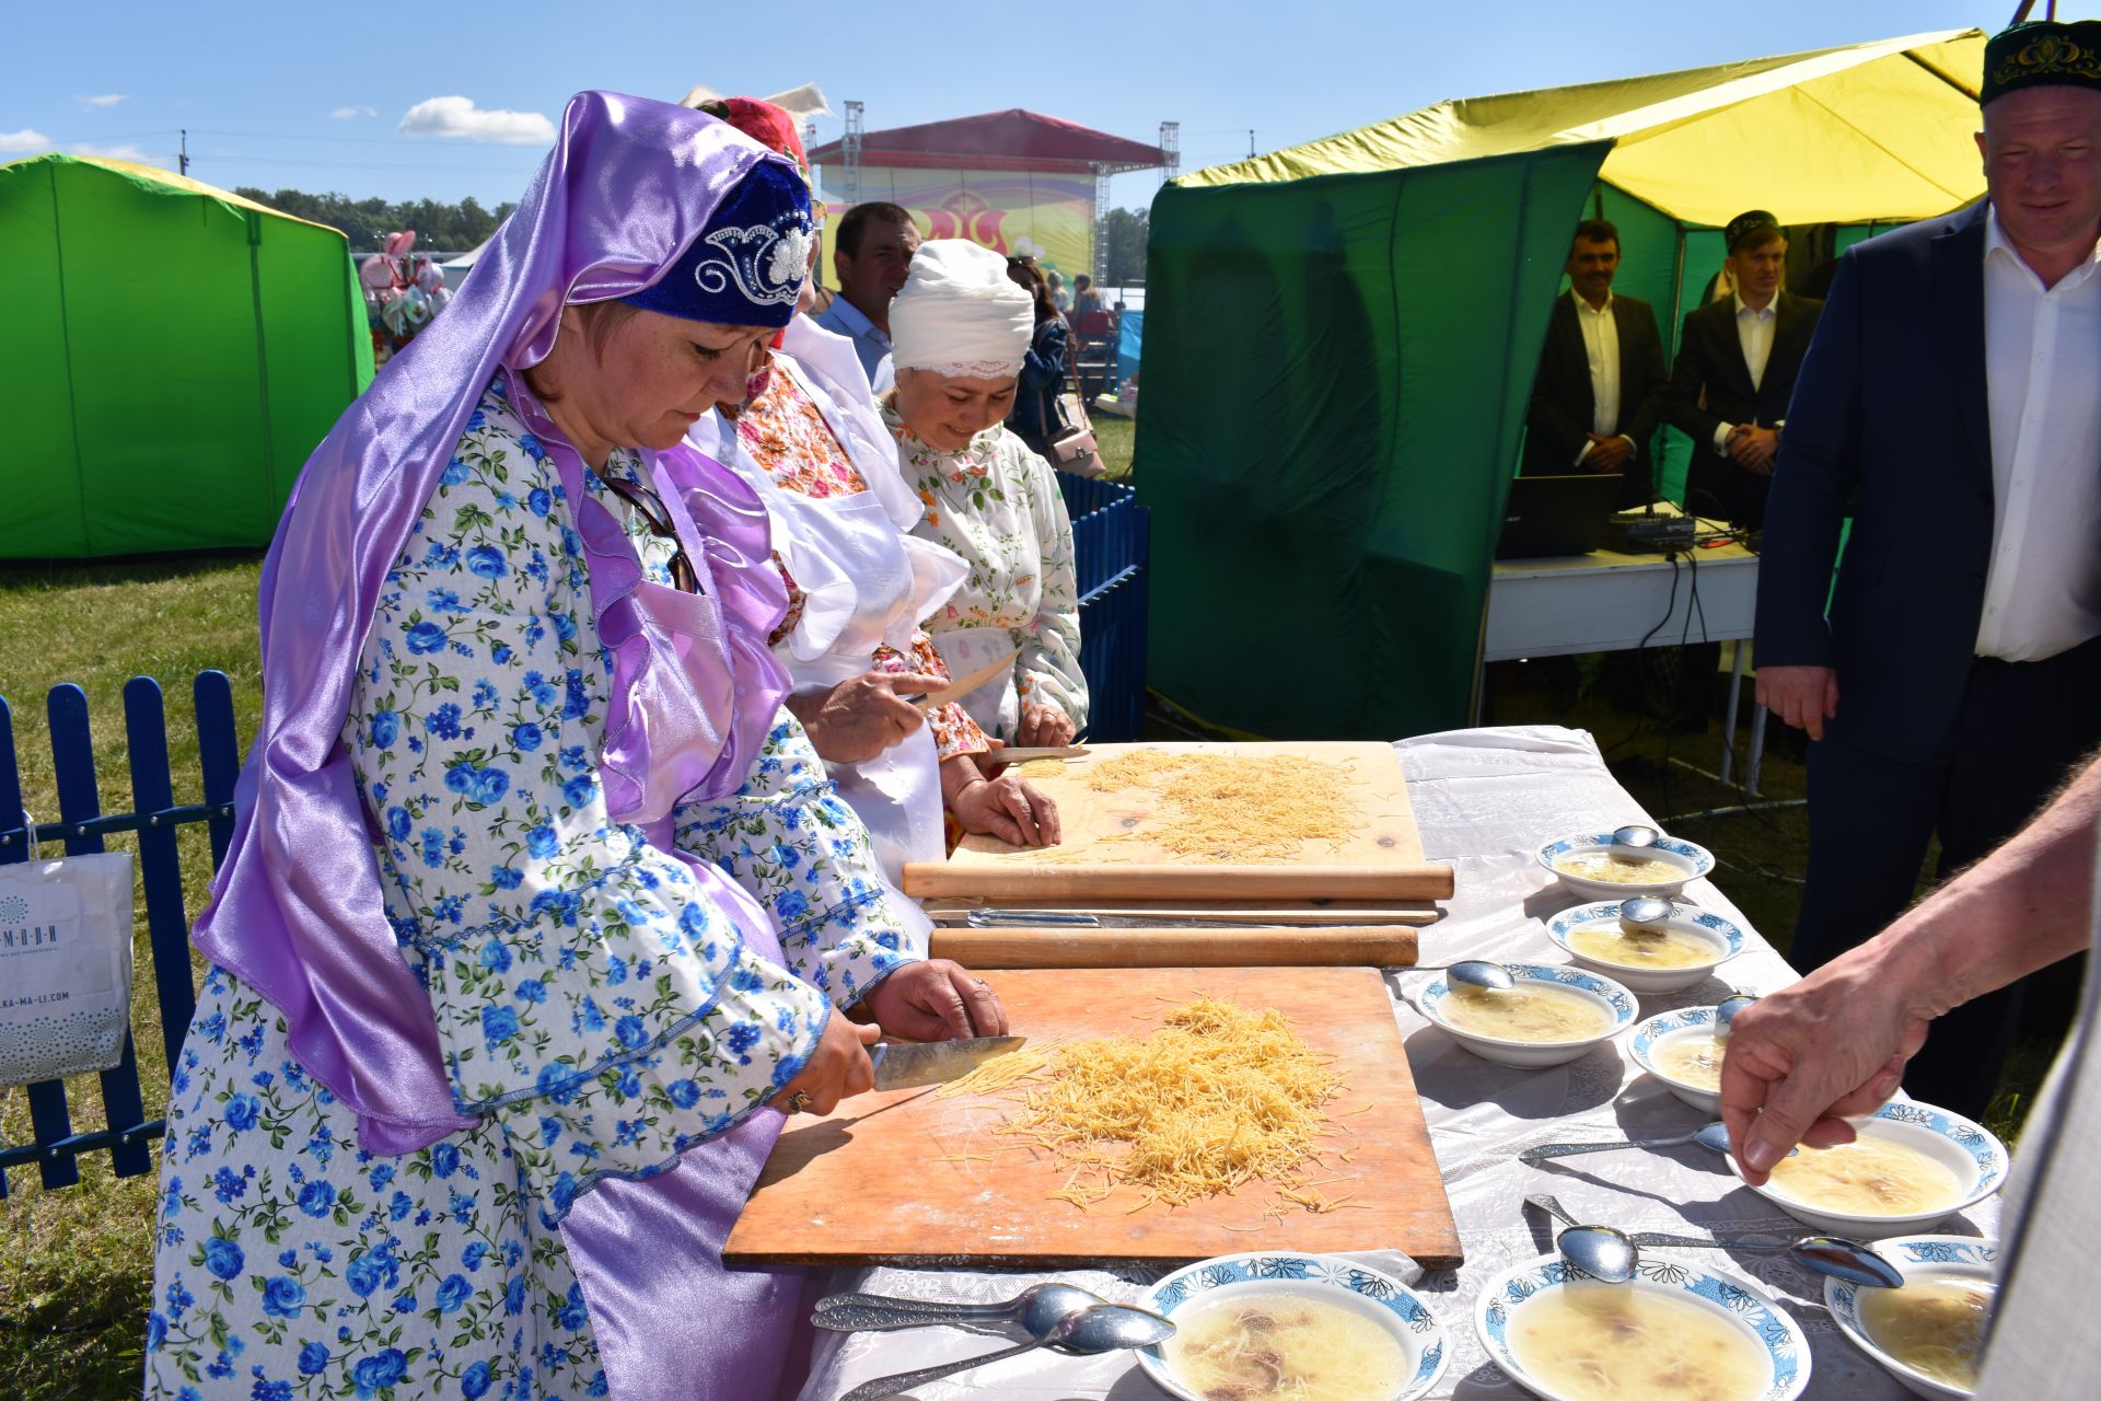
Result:
{"type": "MultiPolygon", "coordinates": [[[[395,943],[372,830],[340,744],[376,601],[498,370],[546,359],[561,309],[653,286],[761,166],[794,166],[714,118],[582,92],[525,197],[429,330],[389,361],[315,447],[263,561],[263,723],[235,790],[233,844],[197,947],[263,994],[300,1065],[359,1115],[359,1141],[408,1153],[473,1124],[454,1111],[431,1004],[395,943]]],[[[523,395],[521,395],[523,399],[523,395]]],[[[574,466],[567,443],[557,460],[574,466]]],[[[649,458],[651,454],[645,454],[649,458]]],[[[683,666],[641,571],[597,500],[569,489],[590,607],[613,653],[605,794],[660,823],[683,796],[731,792],[788,689],[767,632],[786,592],[765,508],[695,452],[645,462],[689,515],[719,586],[721,647],[683,666]],[[618,546],[618,548],[616,548],[618,546]],[[727,655],[725,655],[727,653],[727,655]],[[721,674],[729,666],[740,685],[721,674]]],[[[683,510],[681,510],[683,508],[683,510]]],[[[691,550],[689,550],[691,552],[691,550]]],[[[677,628],[672,628],[677,632],[677,628]]]]}

